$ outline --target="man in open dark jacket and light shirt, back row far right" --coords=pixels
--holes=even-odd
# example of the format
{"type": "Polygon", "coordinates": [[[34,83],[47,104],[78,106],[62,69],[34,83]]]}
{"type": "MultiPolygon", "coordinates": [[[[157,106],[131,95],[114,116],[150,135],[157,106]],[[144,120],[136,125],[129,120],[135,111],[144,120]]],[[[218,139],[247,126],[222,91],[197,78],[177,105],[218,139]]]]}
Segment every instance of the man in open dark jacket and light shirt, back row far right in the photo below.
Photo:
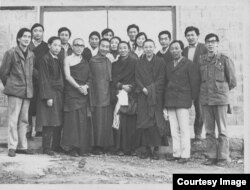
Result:
{"type": "MultiPolygon", "coordinates": [[[[183,55],[184,57],[191,60],[196,66],[198,66],[198,61],[200,59],[200,56],[207,53],[205,44],[198,42],[199,35],[200,35],[199,29],[194,26],[189,26],[185,30],[185,37],[189,45],[184,48],[183,55]]],[[[197,74],[195,73],[194,75],[196,76],[197,74]]],[[[195,109],[194,139],[196,142],[199,142],[201,140],[201,133],[203,127],[199,98],[194,100],[194,109],[195,109]]]]}

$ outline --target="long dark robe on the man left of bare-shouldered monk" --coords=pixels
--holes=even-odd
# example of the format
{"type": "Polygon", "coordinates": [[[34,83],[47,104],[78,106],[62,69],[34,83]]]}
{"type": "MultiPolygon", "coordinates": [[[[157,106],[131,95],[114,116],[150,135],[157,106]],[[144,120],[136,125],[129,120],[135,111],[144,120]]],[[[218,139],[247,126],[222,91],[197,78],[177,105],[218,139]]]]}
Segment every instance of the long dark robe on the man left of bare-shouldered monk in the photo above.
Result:
{"type": "Polygon", "coordinates": [[[47,53],[39,64],[37,101],[37,125],[60,126],[63,113],[63,75],[60,59],[47,53]],[[53,99],[52,107],[47,100],[53,99]]]}

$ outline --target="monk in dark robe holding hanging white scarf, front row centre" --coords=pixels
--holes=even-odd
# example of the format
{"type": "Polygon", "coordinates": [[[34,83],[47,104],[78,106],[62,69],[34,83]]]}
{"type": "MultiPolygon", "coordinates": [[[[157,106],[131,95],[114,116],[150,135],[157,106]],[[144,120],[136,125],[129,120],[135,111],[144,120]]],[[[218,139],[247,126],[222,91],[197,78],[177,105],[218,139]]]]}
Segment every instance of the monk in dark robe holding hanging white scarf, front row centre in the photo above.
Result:
{"type": "MultiPolygon", "coordinates": [[[[121,91],[125,91],[130,99],[136,101],[135,65],[137,60],[130,55],[128,42],[120,42],[118,51],[120,57],[112,64],[111,100],[113,107],[117,105],[117,94],[121,91]]],[[[118,115],[119,127],[114,128],[116,153],[119,156],[133,156],[136,148],[136,113],[118,113],[118,115]]]]}

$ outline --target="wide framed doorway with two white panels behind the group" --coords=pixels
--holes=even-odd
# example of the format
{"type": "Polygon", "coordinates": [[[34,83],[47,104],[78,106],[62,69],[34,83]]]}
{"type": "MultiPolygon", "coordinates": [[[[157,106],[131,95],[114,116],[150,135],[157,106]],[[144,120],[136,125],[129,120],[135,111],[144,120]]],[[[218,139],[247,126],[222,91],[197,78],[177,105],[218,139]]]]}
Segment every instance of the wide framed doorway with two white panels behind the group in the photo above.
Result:
{"type": "Polygon", "coordinates": [[[84,39],[88,45],[88,36],[92,31],[102,32],[111,28],[116,36],[128,41],[127,26],[136,24],[140,31],[156,42],[158,33],[169,30],[173,38],[175,32],[175,7],[41,7],[41,23],[44,25],[44,40],[57,36],[60,27],[66,26],[71,32],[71,41],[76,37],[84,39]]]}

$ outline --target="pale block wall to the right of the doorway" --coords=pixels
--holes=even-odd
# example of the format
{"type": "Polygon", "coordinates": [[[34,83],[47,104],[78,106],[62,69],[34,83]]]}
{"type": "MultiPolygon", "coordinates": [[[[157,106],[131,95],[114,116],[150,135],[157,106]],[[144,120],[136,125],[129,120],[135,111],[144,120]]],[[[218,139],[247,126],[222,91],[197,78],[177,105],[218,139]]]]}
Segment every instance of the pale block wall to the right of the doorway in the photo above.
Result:
{"type": "MultiPolygon", "coordinates": [[[[233,114],[229,124],[243,124],[243,44],[244,11],[241,6],[180,6],[177,9],[177,36],[186,42],[184,31],[193,25],[200,29],[200,42],[208,33],[216,33],[220,38],[220,50],[235,64],[237,87],[230,93],[233,114]]],[[[186,44],[187,45],[187,44],[186,44]]]]}

